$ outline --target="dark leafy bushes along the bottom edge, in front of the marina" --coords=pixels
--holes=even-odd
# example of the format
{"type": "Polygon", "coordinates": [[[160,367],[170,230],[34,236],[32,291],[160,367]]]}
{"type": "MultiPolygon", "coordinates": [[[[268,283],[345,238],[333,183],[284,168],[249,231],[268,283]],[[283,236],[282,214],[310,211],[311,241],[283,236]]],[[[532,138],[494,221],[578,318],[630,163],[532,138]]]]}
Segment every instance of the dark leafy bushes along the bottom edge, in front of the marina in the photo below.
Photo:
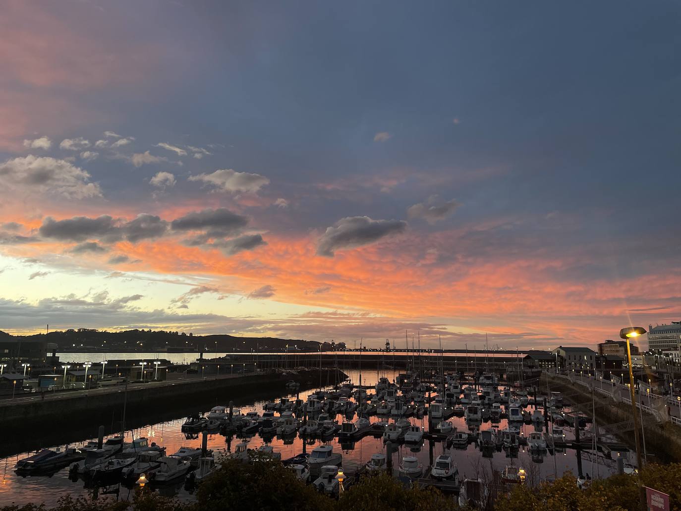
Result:
{"type": "MultiPolygon", "coordinates": [[[[681,463],[647,465],[642,471],[646,486],[668,493],[672,510],[681,509],[681,463]]],[[[456,501],[437,490],[407,488],[387,475],[365,476],[331,499],[305,485],[279,463],[259,461],[242,465],[225,461],[196,493],[196,501],[180,503],[148,489],[136,490],[132,501],[63,497],[52,508],[44,505],[4,506],[0,511],[219,511],[258,509],[267,511],[448,511],[456,501]]],[[[518,485],[496,499],[498,511],[639,511],[637,478],[613,476],[595,480],[586,491],[577,489],[572,474],[537,488],[518,485]]]]}

